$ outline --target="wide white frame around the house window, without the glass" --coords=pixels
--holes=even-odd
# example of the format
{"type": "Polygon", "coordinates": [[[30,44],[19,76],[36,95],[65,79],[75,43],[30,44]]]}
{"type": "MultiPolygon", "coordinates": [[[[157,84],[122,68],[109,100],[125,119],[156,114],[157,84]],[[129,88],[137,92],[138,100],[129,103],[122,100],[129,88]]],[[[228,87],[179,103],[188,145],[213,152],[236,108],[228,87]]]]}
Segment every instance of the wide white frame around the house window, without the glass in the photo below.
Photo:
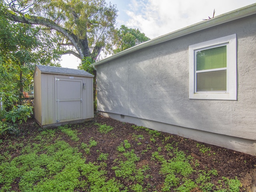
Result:
{"type": "Polygon", "coordinates": [[[208,100],[237,100],[236,97],[236,34],[190,45],[189,51],[189,98],[208,100]],[[196,51],[226,45],[227,90],[196,92],[196,51]]]}

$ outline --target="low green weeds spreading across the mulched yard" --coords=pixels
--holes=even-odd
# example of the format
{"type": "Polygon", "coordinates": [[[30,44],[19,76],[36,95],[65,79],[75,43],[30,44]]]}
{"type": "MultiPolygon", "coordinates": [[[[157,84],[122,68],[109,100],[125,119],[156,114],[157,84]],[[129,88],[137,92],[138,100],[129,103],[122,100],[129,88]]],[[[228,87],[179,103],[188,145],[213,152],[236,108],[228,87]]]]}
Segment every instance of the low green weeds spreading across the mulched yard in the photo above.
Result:
{"type": "MultiPolygon", "coordinates": [[[[32,124],[37,131],[2,138],[0,192],[247,190],[240,179],[244,173],[228,176],[204,164],[194,152],[182,150],[186,139],[118,123],[92,121],[47,130],[32,124]],[[119,134],[120,125],[126,126],[126,135],[119,134]]],[[[210,146],[194,142],[193,150],[223,163],[210,146]]]]}

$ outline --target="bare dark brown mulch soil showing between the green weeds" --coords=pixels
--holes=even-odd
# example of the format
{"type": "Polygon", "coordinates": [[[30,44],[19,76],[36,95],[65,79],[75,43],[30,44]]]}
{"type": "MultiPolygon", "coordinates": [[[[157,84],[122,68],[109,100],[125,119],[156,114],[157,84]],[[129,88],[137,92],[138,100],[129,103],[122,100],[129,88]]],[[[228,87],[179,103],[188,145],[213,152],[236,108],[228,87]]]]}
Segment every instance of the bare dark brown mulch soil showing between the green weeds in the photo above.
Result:
{"type": "MultiPolygon", "coordinates": [[[[90,141],[90,138],[94,138],[94,140],[96,140],[98,144],[95,148],[92,148],[90,150],[90,155],[85,154],[85,151],[82,149],[80,150],[80,152],[83,153],[84,156],[86,156],[86,162],[98,163],[99,161],[97,160],[97,158],[99,156],[99,152],[97,152],[97,150],[100,152],[108,153],[108,160],[106,161],[106,176],[109,179],[116,178],[115,172],[114,170],[112,170],[112,167],[116,165],[114,160],[118,158],[116,148],[120,145],[121,142],[123,142],[124,140],[128,140],[132,146],[132,149],[134,149],[135,154],[140,158],[140,160],[136,164],[137,168],[141,168],[143,165],[148,165],[150,167],[151,177],[146,179],[146,181],[144,182],[144,187],[146,187],[149,183],[151,186],[155,186],[154,190],[152,188],[152,191],[161,191],[161,188],[164,184],[164,176],[162,174],[159,174],[161,169],[161,163],[151,160],[152,152],[158,151],[161,147],[162,150],[160,154],[163,155],[166,160],[170,160],[171,157],[169,157],[168,159],[167,151],[164,150],[164,146],[167,143],[172,144],[173,142],[176,142],[178,143],[178,150],[184,151],[186,155],[190,155],[198,161],[200,165],[196,167],[197,170],[215,169],[218,171],[218,176],[213,177],[211,180],[213,184],[217,184],[218,180],[220,180],[222,177],[237,177],[238,180],[240,180],[242,183],[240,191],[254,191],[253,187],[255,186],[256,182],[255,156],[214,145],[200,143],[195,140],[186,139],[164,132],[162,132],[161,136],[155,138],[155,142],[153,142],[152,140],[150,140],[150,134],[145,132],[145,130],[135,130],[134,128],[132,128],[132,125],[133,124],[123,123],[112,118],[106,118],[100,115],[96,115],[94,119],[90,122],[70,125],[76,128],[78,130],[78,133],[81,133],[78,134],[78,142],[71,140],[70,137],[62,132],[58,132],[58,136],[74,147],[80,146],[82,142],[88,143],[90,141]],[[114,129],[108,134],[100,134],[97,130],[98,126],[96,126],[95,123],[110,125],[114,127],[114,129]],[[142,134],[144,136],[144,139],[141,140],[142,144],[138,145],[138,141],[135,141],[134,138],[132,138],[134,134],[142,134]],[[200,152],[197,144],[201,144],[204,145],[206,148],[210,148],[210,152],[200,152]],[[150,150],[148,150],[148,146],[150,146],[150,150]],[[146,152],[142,153],[142,151],[146,152]]],[[[20,127],[20,134],[18,136],[8,135],[2,139],[8,139],[9,141],[15,142],[17,137],[22,137],[23,141],[29,141],[31,137],[36,136],[40,131],[42,130],[40,129],[38,124],[36,124],[34,119],[30,119],[26,124],[23,124],[20,127]]],[[[4,154],[6,150],[7,148],[0,148],[0,154],[4,154]]],[[[12,158],[14,158],[15,156],[20,155],[21,149],[15,151],[10,151],[10,149],[8,150],[10,154],[12,154],[12,158]]],[[[195,174],[194,176],[190,176],[190,178],[195,180],[197,176],[198,175],[195,174]]],[[[118,178],[118,180],[120,180],[126,186],[136,184],[136,181],[134,181],[133,183],[128,183],[126,180],[122,180],[122,178],[118,178]]],[[[12,189],[18,190],[18,183],[17,186],[13,186],[12,189]]],[[[196,191],[200,190],[198,189],[196,191]]]]}

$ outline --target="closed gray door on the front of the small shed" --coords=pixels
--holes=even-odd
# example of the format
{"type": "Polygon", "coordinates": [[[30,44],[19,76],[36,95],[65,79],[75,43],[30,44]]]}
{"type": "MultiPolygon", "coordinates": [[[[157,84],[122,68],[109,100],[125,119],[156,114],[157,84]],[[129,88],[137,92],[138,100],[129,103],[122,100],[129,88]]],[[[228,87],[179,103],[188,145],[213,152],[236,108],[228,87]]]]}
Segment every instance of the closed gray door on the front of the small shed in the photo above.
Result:
{"type": "Polygon", "coordinates": [[[56,122],[82,119],[82,80],[55,78],[56,122]]]}

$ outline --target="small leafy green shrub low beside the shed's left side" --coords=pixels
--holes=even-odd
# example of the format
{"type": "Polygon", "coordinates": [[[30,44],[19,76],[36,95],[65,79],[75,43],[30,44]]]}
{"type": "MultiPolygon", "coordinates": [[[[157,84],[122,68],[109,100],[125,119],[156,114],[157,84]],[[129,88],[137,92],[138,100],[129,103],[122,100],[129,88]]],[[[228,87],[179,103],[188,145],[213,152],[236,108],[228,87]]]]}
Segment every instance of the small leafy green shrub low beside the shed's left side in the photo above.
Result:
{"type": "Polygon", "coordinates": [[[9,122],[26,122],[32,114],[32,107],[26,105],[13,106],[12,110],[6,113],[6,120],[9,122]]]}

